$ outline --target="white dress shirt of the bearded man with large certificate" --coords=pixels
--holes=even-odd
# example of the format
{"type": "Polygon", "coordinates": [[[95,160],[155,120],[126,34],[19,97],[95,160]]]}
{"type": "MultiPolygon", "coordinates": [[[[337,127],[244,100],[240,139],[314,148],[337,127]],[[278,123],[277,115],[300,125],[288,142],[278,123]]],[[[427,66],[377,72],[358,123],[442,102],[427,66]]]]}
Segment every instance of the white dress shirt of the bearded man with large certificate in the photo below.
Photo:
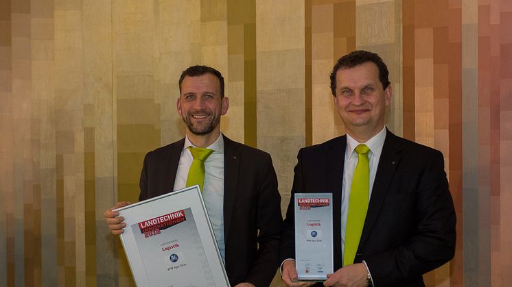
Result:
{"type": "MultiPolygon", "coordinates": [[[[173,190],[187,186],[189,169],[194,161],[188,147],[195,146],[185,136],[185,145],[183,145],[181,151],[173,190]]],[[[213,149],[213,153],[205,160],[205,182],[202,185],[202,199],[205,201],[220,255],[224,260],[226,248],[224,245],[224,138],[222,134],[207,149],[213,149]]]]}

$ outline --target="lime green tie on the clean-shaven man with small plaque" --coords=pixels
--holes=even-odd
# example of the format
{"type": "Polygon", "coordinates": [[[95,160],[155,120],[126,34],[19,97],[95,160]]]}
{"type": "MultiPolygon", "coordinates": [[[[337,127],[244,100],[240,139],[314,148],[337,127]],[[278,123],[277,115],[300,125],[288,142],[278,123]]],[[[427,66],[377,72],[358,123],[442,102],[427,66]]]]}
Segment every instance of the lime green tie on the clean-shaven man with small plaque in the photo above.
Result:
{"type": "Polygon", "coordinates": [[[347,229],[345,229],[345,251],[343,253],[343,266],[353,264],[358,251],[366,210],[368,210],[368,194],[370,185],[370,168],[368,163],[369,147],[361,144],[356,147],[358,165],[353,172],[350,188],[349,212],[347,215],[347,229]]]}

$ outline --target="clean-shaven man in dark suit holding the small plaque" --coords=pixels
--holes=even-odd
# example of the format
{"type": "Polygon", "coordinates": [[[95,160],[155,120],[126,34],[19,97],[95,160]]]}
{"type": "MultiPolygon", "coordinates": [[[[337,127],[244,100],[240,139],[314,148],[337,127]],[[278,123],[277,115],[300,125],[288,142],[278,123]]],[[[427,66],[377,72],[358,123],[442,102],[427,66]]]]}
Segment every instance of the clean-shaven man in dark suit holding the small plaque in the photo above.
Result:
{"type": "Polygon", "coordinates": [[[393,90],[377,54],[354,51],[340,58],[331,73],[331,92],[347,134],[303,148],[297,155],[281,233],[283,283],[312,285],[292,281],[297,278],[294,194],[332,192],[335,272],[323,285],[425,286],[422,275],[453,258],[455,250],[456,216],[443,155],[386,129],[384,112],[393,90]],[[369,195],[355,252],[347,260],[346,227],[353,224],[351,192],[359,192],[351,183],[360,144],[369,148],[369,195]]]}

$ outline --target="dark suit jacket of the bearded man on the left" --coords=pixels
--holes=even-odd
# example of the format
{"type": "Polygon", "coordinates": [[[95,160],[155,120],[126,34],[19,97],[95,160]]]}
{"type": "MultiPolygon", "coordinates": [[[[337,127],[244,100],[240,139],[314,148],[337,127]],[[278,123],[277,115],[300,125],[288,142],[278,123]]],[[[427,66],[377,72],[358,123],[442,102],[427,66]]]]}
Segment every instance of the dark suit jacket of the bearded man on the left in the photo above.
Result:
{"type": "MultiPolygon", "coordinates": [[[[172,191],[185,138],[146,155],[139,200],[172,191]]],[[[279,266],[281,197],[270,155],[224,136],[225,266],[232,286],[268,286],[279,266]]]]}

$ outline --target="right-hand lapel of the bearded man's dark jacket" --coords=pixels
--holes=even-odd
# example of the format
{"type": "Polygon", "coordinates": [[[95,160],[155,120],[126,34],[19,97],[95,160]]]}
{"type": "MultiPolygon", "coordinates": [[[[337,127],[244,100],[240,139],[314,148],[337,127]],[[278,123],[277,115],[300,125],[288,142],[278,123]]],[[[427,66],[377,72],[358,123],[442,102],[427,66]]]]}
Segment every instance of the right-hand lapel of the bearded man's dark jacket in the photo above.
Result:
{"type": "Polygon", "coordinates": [[[224,242],[228,242],[231,213],[235,205],[240,155],[235,142],[224,137],[224,242]]]}

